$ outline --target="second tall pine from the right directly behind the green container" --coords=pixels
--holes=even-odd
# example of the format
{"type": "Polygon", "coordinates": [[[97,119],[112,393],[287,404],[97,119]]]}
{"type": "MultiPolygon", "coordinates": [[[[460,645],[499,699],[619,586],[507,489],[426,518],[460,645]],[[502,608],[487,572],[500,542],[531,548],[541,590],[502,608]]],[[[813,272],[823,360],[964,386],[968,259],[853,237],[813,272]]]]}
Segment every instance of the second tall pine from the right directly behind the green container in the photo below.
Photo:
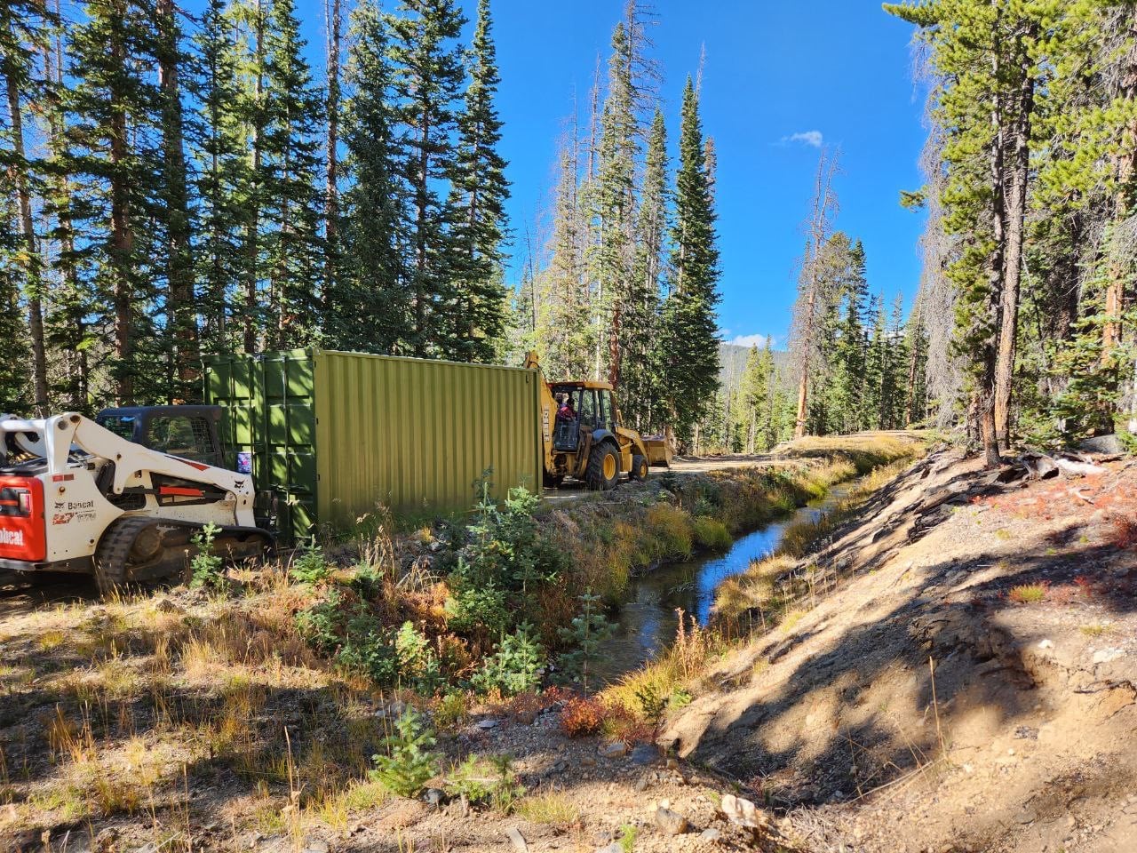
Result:
{"type": "Polygon", "coordinates": [[[457,304],[450,267],[449,207],[438,183],[456,157],[455,108],[465,69],[456,40],[465,18],[454,0],[404,0],[388,16],[388,57],[393,71],[396,175],[408,205],[406,249],[415,356],[438,351],[447,341],[446,306],[457,304]]]}

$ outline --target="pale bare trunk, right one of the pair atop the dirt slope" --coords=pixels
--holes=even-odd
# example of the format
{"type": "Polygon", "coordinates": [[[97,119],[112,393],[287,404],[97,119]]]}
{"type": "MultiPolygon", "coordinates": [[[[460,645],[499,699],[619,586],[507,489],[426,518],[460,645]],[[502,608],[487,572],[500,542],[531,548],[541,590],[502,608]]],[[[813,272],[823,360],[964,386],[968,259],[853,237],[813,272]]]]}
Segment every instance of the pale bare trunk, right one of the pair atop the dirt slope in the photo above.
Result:
{"type": "MultiPolygon", "coordinates": [[[[1031,33],[1032,34],[1032,33],[1031,33]]],[[[1027,182],[1030,169],[1030,124],[1035,107],[1035,80],[1030,56],[1022,38],[1016,43],[1019,92],[1014,103],[1013,159],[1006,193],[1006,252],[1001,293],[998,358],[995,365],[995,439],[999,449],[1010,449],[1011,390],[1014,379],[1015,341],[1019,331],[1019,288],[1022,280],[1023,222],[1027,215],[1027,182]]]]}

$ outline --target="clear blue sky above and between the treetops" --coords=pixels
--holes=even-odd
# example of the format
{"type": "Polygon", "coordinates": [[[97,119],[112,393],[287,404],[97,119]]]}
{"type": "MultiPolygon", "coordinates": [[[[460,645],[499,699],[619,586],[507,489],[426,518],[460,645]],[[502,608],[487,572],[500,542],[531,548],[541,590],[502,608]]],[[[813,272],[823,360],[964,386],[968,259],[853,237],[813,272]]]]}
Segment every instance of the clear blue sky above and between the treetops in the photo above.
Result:
{"type": "MultiPolygon", "coordinates": [[[[476,0],[462,2],[472,18],[476,0]]],[[[297,6],[319,67],[323,3],[297,6]]],[[[513,183],[508,212],[521,238],[549,201],[557,139],[574,93],[586,109],[597,55],[606,61],[623,0],[493,0],[492,9],[503,154],[513,183]]],[[[922,218],[897,199],[922,182],[916,160],[924,139],[911,27],[881,11],[879,0],[658,0],[655,11],[672,142],[683,82],[706,49],[702,106],[719,152],[727,339],[772,334],[775,345],[786,342],[819,154],[814,134],[840,150],[837,225],[864,241],[870,287],[887,303],[901,291],[910,304],[922,218]]]]}

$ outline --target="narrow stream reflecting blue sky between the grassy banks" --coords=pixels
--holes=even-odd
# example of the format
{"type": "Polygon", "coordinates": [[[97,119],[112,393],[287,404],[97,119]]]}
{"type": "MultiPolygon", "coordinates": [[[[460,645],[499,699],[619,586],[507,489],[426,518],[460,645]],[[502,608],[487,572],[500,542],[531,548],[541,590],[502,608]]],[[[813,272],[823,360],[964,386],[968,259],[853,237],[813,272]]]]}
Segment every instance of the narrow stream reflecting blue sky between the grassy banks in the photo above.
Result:
{"type": "Polygon", "coordinates": [[[830,511],[856,485],[839,483],[829,494],[811,500],[781,521],[772,522],[736,539],[725,554],[709,554],[680,563],[665,563],[631,582],[631,597],[615,619],[616,632],[605,644],[604,660],[597,665],[601,679],[614,681],[666,651],[675,638],[675,610],[694,615],[705,626],[711,619],[714,594],[730,577],[745,572],[754,560],[772,554],[782,533],[803,521],[814,522],[830,511]]]}

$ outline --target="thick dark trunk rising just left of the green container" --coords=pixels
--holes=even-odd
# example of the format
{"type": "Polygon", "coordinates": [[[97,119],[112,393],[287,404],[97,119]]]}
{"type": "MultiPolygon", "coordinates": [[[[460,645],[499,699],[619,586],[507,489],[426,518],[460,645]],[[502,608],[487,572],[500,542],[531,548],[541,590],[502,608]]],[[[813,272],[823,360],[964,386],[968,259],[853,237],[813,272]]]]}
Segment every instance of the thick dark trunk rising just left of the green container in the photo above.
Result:
{"type": "Polygon", "coordinates": [[[163,96],[163,156],[166,162],[168,216],[166,276],[169,295],[166,318],[173,332],[171,367],[175,386],[171,401],[184,401],[200,376],[197,306],[193,298],[193,259],[190,254],[189,188],[185,176],[182,100],[177,75],[177,23],[173,0],[158,0],[161,31],[158,80],[163,96]]]}

